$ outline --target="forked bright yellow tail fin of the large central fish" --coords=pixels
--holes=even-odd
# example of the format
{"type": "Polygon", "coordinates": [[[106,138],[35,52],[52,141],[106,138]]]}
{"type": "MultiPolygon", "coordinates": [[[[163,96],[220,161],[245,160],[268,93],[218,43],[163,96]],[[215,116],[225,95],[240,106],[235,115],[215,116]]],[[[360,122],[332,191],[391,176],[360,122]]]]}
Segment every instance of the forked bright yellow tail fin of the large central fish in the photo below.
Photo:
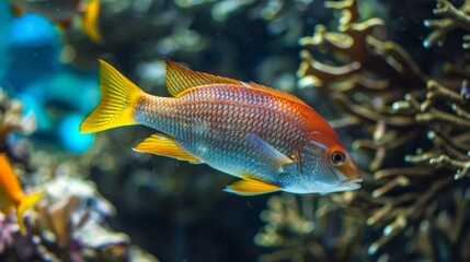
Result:
{"type": "Polygon", "coordinates": [[[94,133],[136,124],[136,104],[145,93],[107,62],[100,60],[101,102],[80,124],[80,132],[94,133]]]}

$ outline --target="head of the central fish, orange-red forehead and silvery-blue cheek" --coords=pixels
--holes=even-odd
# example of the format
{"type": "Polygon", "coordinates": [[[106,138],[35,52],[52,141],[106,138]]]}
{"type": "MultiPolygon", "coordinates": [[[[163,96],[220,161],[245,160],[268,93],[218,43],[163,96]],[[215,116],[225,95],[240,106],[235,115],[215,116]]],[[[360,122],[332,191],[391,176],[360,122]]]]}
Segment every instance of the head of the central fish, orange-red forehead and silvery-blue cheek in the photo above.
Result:
{"type": "Polygon", "coordinates": [[[300,181],[309,192],[326,193],[360,188],[360,171],[336,138],[316,135],[299,152],[298,160],[298,165],[301,165],[298,168],[300,181]]]}

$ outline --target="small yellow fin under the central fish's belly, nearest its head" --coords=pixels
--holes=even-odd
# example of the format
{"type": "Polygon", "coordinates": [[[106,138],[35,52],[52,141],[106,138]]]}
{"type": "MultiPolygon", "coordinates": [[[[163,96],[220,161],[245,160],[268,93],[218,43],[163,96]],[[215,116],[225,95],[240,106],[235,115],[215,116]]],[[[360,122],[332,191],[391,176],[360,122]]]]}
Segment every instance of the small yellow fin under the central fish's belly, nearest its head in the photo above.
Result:
{"type": "Polygon", "coordinates": [[[279,191],[280,187],[277,184],[267,183],[259,180],[239,180],[233,182],[223,190],[229,193],[239,195],[256,195],[279,191]]]}

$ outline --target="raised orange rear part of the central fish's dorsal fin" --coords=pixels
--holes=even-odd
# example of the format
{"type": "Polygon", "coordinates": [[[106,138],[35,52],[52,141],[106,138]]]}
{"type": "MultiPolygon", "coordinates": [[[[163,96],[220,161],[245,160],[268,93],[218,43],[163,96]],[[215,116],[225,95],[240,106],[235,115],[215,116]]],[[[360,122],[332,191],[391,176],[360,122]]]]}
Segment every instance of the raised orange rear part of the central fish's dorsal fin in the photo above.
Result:
{"type": "Polygon", "coordinates": [[[167,59],[167,87],[172,96],[177,97],[182,92],[188,88],[207,84],[241,85],[242,82],[229,78],[193,71],[167,59]]]}

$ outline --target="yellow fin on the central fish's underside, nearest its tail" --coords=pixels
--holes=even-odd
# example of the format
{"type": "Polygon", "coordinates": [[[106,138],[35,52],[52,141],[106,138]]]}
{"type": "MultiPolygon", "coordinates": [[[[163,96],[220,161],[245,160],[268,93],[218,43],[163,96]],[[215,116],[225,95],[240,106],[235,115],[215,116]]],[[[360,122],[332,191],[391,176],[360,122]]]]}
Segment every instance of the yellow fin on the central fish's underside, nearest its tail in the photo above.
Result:
{"type": "Polygon", "coordinates": [[[156,133],[150,135],[142,142],[140,142],[138,145],[136,145],[134,147],[134,151],[173,157],[180,160],[187,160],[192,164],[202,163],[198,158],[183,151],[180,145],[176,144],[173,138],[162,133],[156,133]]]}

